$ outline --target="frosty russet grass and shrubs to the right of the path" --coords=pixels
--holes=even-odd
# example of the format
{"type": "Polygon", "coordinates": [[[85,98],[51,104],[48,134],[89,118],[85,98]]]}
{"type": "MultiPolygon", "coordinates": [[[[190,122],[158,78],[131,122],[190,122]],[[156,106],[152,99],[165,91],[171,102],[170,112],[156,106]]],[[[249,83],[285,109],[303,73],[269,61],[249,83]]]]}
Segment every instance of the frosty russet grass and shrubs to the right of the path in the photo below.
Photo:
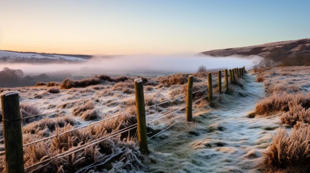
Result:
{"type": "Polygon", "coordinates": [[[310,68],[277,67],[254,69],[263,81],[266,97],[256,105],[256,113],[280,112],[283,124],[292,129],[278,129],[271,145],[263,152],[266,172],[306,172],[310,161],[310,68]]]}

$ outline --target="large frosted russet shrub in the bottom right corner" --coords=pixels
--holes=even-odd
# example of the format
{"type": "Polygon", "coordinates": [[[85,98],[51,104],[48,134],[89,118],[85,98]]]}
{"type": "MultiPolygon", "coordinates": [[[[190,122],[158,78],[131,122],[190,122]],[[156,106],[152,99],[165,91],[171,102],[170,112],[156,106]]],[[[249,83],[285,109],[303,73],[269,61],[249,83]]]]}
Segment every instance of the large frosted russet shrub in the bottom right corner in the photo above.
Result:
{"type": "Polygon", "coordinates": [[[308,124],[299,124],[290,134],[284,128],[279,129],[271,145],[263,152],[266,169],[281,171],[291,166],[302,172],[300,168],[307,168],[310,162],[309,140],[308,124]]]}

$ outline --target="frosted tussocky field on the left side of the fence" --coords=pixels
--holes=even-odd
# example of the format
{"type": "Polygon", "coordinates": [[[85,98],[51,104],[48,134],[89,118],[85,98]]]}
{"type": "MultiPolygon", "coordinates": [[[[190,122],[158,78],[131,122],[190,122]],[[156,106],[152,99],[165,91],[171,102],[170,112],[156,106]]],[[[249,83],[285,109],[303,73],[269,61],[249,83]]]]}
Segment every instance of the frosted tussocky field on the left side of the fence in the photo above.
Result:
{"type": "MultiPolygon", "coordinates": [[[[187,82],[187,75],[176,74],[167,77],[150,78],[148,81],[143,78],[145,81],[146,106],[152,106],[146,108],[147,121],[170,113],[164,118],[149,123],[148,135],[150,137],[174,123],[180,117],[184,117],[184,110],[174,111],[185,104],[183,97],[186,88],[184,88],[183,84],[187,82]],[[155,104],[170,100],[173,101],[155,106],[155,104]]],[[[194,95],[194,98],[197,99],[206,92],[207,82],[205,74],[195,75],[195,91],[205,88],[194,95]]],[[[57,93],[55,86],[9,89],[19,91],[24,118],[43,113],[43,116],[23,120],[24,145],[128,112],[108,121],[66,133],[58,138],[50,138],[25,146],[24,158],[25,168],[28,168],[27,171],[37,168],[38,165],[33,168],[30,166],[38,162],[45,161],[57,154],[87,144],[98,138],[108,137],[109,134],[132,127],[137,123],[133,89],[134,78],[118,77],[116,79],[117,82],[103,81],[100,84],[85,88],[61,89],[59,93],[57,93]]],[[[5,90],[7,89],[1,89],[1,92],[5,90]]],[[[201,101],[194,106],[201,107],[205,104],[206,101],[201,101]]],[[[2,130],[2,124],[0,126],[2,130]]],[[[2,132],[0,133],[2,134],[2,132]]],[[[3,138],[0,140],[0,151],[3,151],[3,138]]],[[[4,172],[3,152],[0,154],[0,159],[0,171],[4,172]]],[[[92,163],[102,165],[96,168],[90,167],[87,171],[147,171],[147,167],[142,164],[144,161],[145,157],[140,153],[136,145],[136,128],[134,128],[127,133],[108,138],[85,150],[53,160],[44,168],[37,170],[37,172],[57,172],[61,170],[75,172],[92,163]],[[111,156],[113,156],[112,159],[105,163],[106,158],[111,156]]]]}

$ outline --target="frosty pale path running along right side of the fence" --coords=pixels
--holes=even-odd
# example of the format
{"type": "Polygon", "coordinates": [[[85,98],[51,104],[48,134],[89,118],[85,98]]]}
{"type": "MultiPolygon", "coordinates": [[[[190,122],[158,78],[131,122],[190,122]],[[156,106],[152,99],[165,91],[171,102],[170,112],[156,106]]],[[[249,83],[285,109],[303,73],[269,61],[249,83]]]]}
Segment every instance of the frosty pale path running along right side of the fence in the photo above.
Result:
{"type": "Polygon", "coordinates": [[[278,117],[249,118],[264,96],[262,83],[247,74],[232,95],[220,96],[220,105],[179,123],[150,141],[150,172],[260,173],[261,152],[279,127],[278,117]]]}

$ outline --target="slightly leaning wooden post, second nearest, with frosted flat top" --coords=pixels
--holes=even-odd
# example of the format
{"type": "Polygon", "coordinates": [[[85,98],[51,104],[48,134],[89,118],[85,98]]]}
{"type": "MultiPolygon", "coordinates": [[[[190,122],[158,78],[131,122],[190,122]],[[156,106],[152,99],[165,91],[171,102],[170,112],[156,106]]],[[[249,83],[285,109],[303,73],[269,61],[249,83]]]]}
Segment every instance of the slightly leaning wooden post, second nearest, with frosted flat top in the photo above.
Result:
{"type": "Polygon", "coordinates": [[[135,82],[135,94],[136,94],[139,146],[140,150],[143,153],[148,153],[149,148],[148,148],[147,124],[145,117],[143,81],[140,78],[137,78],[134,80],[134,82],[135,82]]]}

